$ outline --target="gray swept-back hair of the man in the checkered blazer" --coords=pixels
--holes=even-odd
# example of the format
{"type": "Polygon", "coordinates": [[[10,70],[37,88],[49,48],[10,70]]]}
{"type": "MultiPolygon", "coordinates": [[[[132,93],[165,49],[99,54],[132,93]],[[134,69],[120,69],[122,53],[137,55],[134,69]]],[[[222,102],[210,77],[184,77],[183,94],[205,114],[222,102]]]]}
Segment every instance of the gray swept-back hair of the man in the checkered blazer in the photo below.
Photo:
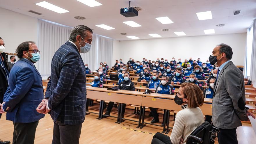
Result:
{"type": "Polygon", "coordinates": [[[76,42],[77,35],[80,35],[82,38],[87,37],[86,31],[90,31],[90,33],[93,33],[93,31],[90,28],[84,25],[74,27],[74,29],[72,29],[70,33],[69,40],[71,40],[72,42],[76,42]]]}

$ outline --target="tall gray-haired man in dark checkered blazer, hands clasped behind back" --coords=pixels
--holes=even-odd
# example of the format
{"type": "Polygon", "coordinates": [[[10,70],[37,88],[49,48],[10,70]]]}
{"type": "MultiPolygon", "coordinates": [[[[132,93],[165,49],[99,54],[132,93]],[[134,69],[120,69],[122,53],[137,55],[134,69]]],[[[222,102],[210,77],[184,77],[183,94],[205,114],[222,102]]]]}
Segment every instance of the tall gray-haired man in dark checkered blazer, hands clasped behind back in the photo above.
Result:
{"type": "MultiPolygon", "coordinates": [[[[45,109],[54,120],[52,144],[78,144],[86,113],[86,69],[80,53],[91,48],[93,31],[87,26],[74,27],[69,41],[62,45],[51,61],[45,109]]],[[[45,112],[44,112],[45,111],[45,112]]]]}

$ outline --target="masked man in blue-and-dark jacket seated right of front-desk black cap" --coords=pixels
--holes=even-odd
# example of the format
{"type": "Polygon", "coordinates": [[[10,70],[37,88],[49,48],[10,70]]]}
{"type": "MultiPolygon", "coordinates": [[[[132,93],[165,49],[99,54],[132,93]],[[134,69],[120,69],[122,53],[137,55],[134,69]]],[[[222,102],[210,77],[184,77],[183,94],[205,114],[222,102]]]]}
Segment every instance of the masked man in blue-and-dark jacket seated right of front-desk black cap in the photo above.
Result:
{"type": "MultiPolygon", "coordinates": [[[[163,76],[161,78],[161,84],[159,84],[155,90],[155,93],[161,93],[161,94],[166,94],[166,95],[174,95],[174,89],[173,86],[168,84],[168,79],[166,76],[163,76]]],[[[159,122],[159,115],[157,113],[157,108],[151,108],[150,107],[151,114],[153,115],[154,119],[151,120],[150,123],[156,123],[159,122]]],[[[163,125],[163,122],[162,122],[163,125]]]]}

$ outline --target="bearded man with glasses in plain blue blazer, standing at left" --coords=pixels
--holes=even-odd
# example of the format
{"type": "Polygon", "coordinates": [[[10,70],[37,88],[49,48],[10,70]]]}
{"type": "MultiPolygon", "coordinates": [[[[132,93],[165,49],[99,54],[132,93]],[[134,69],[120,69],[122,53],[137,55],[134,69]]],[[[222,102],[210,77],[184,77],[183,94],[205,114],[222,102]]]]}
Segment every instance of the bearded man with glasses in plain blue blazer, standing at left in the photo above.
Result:
{"type": "Polygon", "coordinates": [[[13,65],[0,113],[13,121],[13,144],[32,144],[38,121],[45,115],[36,111],[44,98],[42,77],[34,63],[40,59],[35,42],[22,42],[16,49],[19,61],[13,65]]]}

